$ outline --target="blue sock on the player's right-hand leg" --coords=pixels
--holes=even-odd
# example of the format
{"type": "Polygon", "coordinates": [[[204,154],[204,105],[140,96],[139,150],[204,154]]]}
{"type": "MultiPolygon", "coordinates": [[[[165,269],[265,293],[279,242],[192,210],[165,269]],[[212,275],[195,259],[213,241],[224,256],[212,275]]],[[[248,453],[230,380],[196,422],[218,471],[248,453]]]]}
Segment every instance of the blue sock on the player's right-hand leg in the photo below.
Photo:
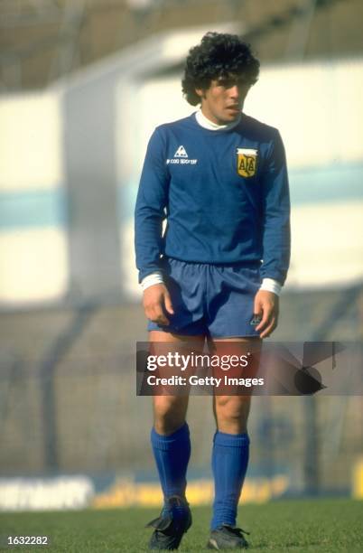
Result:
{"type": "Polygon", "coordinates": [[[212,470],[214,503],[211,530],[222,524],[236,526],[237,505],[247,472],[247,434],[216,432],[213,440],[212,470]]]}

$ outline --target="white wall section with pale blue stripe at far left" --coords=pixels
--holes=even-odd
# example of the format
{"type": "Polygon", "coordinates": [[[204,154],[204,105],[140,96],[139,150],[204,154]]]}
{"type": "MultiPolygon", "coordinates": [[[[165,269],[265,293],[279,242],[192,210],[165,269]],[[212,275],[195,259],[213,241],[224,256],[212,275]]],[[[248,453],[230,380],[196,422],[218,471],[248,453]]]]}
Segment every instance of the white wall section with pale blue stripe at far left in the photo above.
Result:
{"type": "Polygon", "coordinates": [[[64,182],[62,151],[58,94],[0,100],[1,304],[52,301],[66,292],[67,239],[58,223],[59,206],[51,200],[64,182]],[[34,202],[49,205],[49,211],[30,220],[34,202]],[[5,217],[8,206],[12,220],[5,217]]]}

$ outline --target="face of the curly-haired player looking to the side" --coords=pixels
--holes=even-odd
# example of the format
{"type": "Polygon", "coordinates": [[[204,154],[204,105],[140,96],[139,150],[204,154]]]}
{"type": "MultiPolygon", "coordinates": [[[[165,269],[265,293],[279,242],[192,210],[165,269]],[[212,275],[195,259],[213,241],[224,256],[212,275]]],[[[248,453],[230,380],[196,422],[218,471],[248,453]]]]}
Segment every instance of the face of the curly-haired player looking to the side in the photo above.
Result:
{"type": "Polygon", "coordinates": [[[201,99],[201,111],[213,123],[225,125],[239,117],[251,83],[242,78],[219,77],[209,89],[196,89],[201,99]]]}

